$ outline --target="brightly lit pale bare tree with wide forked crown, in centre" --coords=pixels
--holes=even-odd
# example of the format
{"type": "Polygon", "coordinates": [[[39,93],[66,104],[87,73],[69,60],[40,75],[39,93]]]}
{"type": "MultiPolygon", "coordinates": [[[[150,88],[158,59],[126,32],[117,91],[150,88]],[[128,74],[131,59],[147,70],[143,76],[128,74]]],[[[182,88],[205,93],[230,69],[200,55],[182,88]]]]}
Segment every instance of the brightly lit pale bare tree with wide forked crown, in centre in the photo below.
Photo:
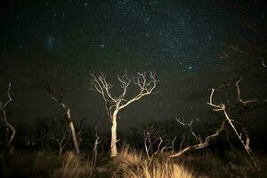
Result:
{"type": "Polygon", "coordinates": [[[108,112],[109,120],[111,123],[111,141],[110,141],[110,158],[117,156],[117,114],[121,109],[125,109],[128,105],[133,103],[134,101],[138,101],[142,99],[143,96],[149,95],[153,93],[157,85],[157,80],[155,77],[155,73],[149,72],[149,74],[142,72],[137,73],[137,76],[130,77],[127,76],[127,73],[122,77],[117,76],[117,80],[120,83],[122,88],[122,93],[119,96],[114,96],[111,94],[110,89],[112,85],[110,85],[106,76],[101,73],[100,76],[96,77],[91,74],[92,80],[91,83],[94,86],[95,90],[98,93],[101,93],[102,98],[105,102],[106,109],[108,112]],[[133,83],[139,88],[139,93],[136,94],[132,99],[127,100],[125,95],[128,90],[128,86],[133,83]]]}

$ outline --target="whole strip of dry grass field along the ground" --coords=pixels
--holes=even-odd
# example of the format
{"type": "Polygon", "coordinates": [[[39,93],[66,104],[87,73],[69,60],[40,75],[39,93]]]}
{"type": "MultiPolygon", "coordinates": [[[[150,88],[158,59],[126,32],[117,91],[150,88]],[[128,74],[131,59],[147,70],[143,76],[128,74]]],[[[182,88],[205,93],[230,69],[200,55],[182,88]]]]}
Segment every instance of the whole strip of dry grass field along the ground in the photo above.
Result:
{"type": "Polygon", "coordinates": [[[15,150],[2,158],[0,177],[267,177],[264,169],[267,156],[258,154],[255,158],[260,169],[258,172],[240,150],[225,151],[223,155],[202,151],[181,158],[168,158],[167,153],[161,153],[150,160],[142,150],[123,146],[117,158],[110,159],[108,153],[100,153],[95,165],[90,154],[77,156],[66,151],[59,158],[54,150],[15,150]]]}

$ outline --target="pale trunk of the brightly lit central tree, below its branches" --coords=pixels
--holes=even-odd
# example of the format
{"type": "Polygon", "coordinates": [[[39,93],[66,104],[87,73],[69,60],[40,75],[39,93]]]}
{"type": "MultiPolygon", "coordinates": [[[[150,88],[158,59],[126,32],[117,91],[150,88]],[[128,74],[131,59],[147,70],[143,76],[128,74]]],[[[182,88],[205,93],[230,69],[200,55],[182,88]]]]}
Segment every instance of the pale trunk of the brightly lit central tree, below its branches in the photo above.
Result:
{"type": "Polygon", "coordinates": [[[110,158],[114,158],[116,156],[117,156],[117,110],[114,111],[112,116],[110,158]]]}

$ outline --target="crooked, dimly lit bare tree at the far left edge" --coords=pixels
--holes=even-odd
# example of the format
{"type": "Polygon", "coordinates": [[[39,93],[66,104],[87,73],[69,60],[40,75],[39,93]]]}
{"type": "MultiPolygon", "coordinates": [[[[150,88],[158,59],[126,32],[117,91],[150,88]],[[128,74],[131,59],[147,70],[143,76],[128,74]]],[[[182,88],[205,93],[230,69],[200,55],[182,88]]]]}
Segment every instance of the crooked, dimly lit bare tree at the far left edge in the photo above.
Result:
{"type": "Polygon", "coordinates": [[[12,140],[14,139],[14,136],[16,134],[16,129],[14,128],[14,126],[12,124],[10,124],[7,121],[6,112],[5,112],[5,109],[6,109],[7,105],[12,101],[12,97],[11,97],[10,91],[11,91],[11,83],[9,83],[8,89],[7,89],[8,101],[5,101],[5,102],[0,101],[0,120],[1,120],[1,122],[4,123],[4,126],[6,126],[8,128],[8,131],[12,133],[9,136],[8,141],[4,145],[4,148],[7,148],[7,147],[9,147],[11,145],[12,140]]]}

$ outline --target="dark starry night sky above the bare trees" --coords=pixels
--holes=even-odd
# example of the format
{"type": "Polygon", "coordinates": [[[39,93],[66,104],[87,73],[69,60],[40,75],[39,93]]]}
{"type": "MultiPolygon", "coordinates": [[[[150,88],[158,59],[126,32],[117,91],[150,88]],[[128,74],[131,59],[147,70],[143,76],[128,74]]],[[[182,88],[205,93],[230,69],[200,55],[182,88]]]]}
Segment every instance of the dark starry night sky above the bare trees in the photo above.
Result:
{"type": "Polygon", "coordinates": [[[212,118],[206,106],[209,88],[232,85],[239,77],[244,77],[247,98],[267,96],[266,72],[259,60],[266,56],[264,1],[0,4],[0,95],[6,98],[12,82],[13,122],[62,113],[40,82],[66,89],[64,101],[75,120],[104,122],[101,95],[90,85],[93,71],[107,73],[112,83],[125,69],[130,74],[157,72],[161,93],[123,110],[124,128],[174,116],[212,118]]]}

